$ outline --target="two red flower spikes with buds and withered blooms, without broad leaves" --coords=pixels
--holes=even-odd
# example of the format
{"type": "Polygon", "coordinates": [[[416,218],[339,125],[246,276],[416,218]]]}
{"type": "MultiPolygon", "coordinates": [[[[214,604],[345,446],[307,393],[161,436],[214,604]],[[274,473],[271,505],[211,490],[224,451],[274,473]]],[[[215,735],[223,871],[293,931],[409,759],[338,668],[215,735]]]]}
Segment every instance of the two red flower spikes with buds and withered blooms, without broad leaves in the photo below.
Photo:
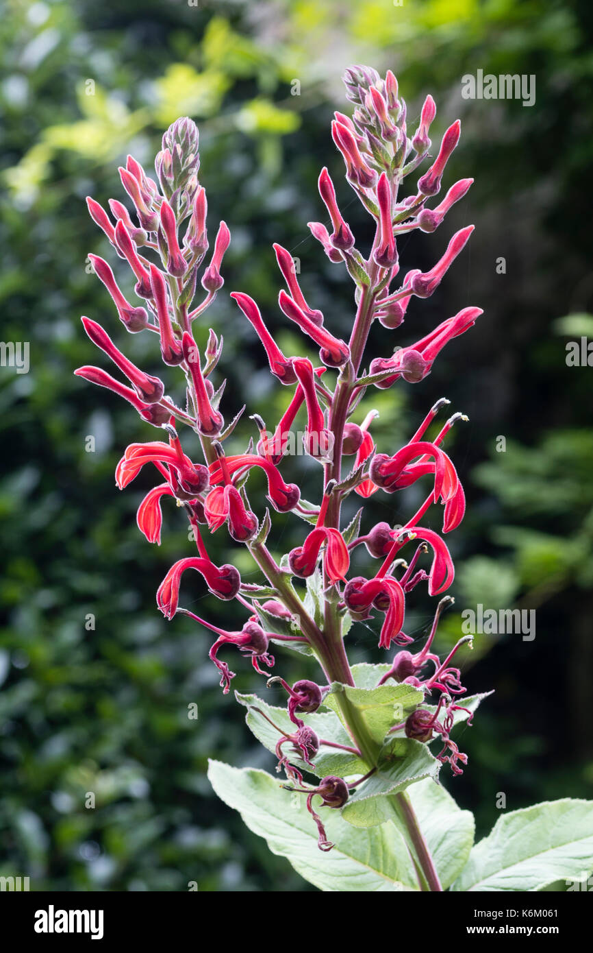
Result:
{"type": "Polygon", "coordinates": [[[447,161],[459,141],[459,121],[446,130],[433,158],[429,132],[436,107],[430,96],[425,100],[417,130],[408,135],[405,101],[392,72],[387,71],[383,79],[374,70],[354,67],[346,72],[345,82],[353,114],[336,112],[332,137],[346,164],[347,183],[374,220],[375,237],[365,256],[356,247],[327,169],[319,176],[319,194],[329,227],[323,222],[309,222],[308,228],[332,263],[346,265],[353,281],[356,314],[349,340],[334,335],[326,326],[324,314],[307,302],[292,257],[281,245],[274,245],[274,252],[286,287],[278,295],[278,304],[304,335],[304,342],[308,339],[319,349],[319,366],[304,356],[283,354],[257,303],[243,292],[230,295],[261,340],[271,374],[290,394],[287,411],[271,432],[273,436],[268,435],[263,418],[254,414],[251,419],[259,437],[255,441],[253,437],[249,439],[244,453],[227,455],[225,441],[241,414],[226,426],[221,412],[224,382],[216,387],[212,379],[222,343],[210,329],[201,351],[194,337],[196,324],[201,325],[203,315],[223,288],[221,269],[230,233],[227,224],[221,222],[207,262],[207,197],[198,181],[198,130],[188,118],[175,122],[163,138],[163,148],[155,162],[158,181],[128,156],[126,168],[119,172],[130,210],[121,202],[110,200],[109,215],[94,199],[88,199],[93,220],[107,236],[114,253],[127,262],[134,276],[134,294],[140,302],[130,303],[108,262],[90,255],[94,272],[113,299],[125,330],[129,334],[155,335],[163,362],[183,373],[187,395],[184,406],[180,407],[173,396],[166,394],[160,377],[138,368],[108,333],[88,317],[82,318],[87,335],[109,356],[128,383],[99,367],[86,366],[75,372],[124,397],[160,432],[161,439],[128,446],[117,465],[116,482],[123,489],[146,464],[158,472],[160,482],[142,500],[137,515],[138,526],[149,542],[160,543],[164,498],[170,497],[185,509],[197,555],[179,558],[171,566],[159,586],[157,603],[166,618],[185,613],[214,633],[209,658],[218,668],[224,692],[228,692],[234,674],[219,659],[223,649],[238,649],[251,659],[256,672],[267,677],[274,666],[270,643],[306,645],[320,662],[322,684],[299,680],[290,686],[279,676],[268,681],[281,685],[287,692],[287,716],[293,731],[287,732],[263,711],[256,711],[277,732],[279,767],[286,770],[290,781],[299,785],[293,790],[306,793],[307,807],[317,823],[319,846],[323,850],[331,843],[313,808],[313,799],[319,796],[322,806],[340,808],[349,792],[377,770],[360,726],[348,724],[352,744],[341,745],[320,739],[303,719],[323,705],[331,682],[353,684],[344,647],[346,618],[356,621],[379,614],[379,647],[395,650],[379,684],[390,679],[409,683],[421,689],[431,705],[417,707],[404,722],[394,723],[388,734],[399,732],[402,737],[422,743],[439,736],[443,748],[438,758],[447,761],[454,773],[461,773],[459,764],[466,760],[450,739],[450,732],[456,712],[470,715],[458,703],[465,688],[460,670],[451,665],[467,639],[461,639],[444,660],[432,651],[439,618],[452,598],[445,596],[439,601],[434,622],[419,651],[410,651],[412,638],[405,633],[408,594],[426,583],[429,596],[442,596],[453,582],[453,562],[443,535],[461,523],[465,497],[445,447],[451,427],[466,418],[461,414],[450,416],[440,433],[429,438],[433,420],[448,403],[443,398],[428,411],[405,446],[388,447],[387,452],[378,453],[371,436],[376,411],[370,411],[359,422],[356,417],[360,400],[369,387],[388,388],[399,378],[407,383],[422,381],[445,344],[462,335],[482,314],[479,308],[464,308],[414,343],[397,347],[390,356],[372,359],[368,373],[361,371],[372,322],[379,321],[387,331],[399,328],[414,297],[425,298],[435,293],[462,252],[473,226],[450,238],[445,253],[429,271],[413,269],[401,279],[398,236],[418,229],[434,232],[451,206],[465,195],[472,179],[454,183],[439,204],[427,208],[427,203],[440,193],[447,161]],[[402,197],[399,193],[404,179],[426,160],[430,160],[429,168],[418,178],[415,188],[402,197]],[[204,294],[196,303],[200,286],[204,294]],[[326,373],[333,385],[326,381],[326,373]],[[306,413],[304,451],[321,466],[323,485],[318,504],[302,501],[299,487],[287,482],[281,472],[287,436],[301,409],[306,413]],[[178,431],[184,425],[189,436],[182,445],[178,431]],[[345,456],[355,457],[347,476],[343,472],[345,456]],[[280,563],[266,545],[271,526],[269,510],[263,512],[262,506],[252,509],[247,497],[248,476],[253,468],[263,470],[266,476],[267,501],[273,510],[294,512],[312,524],[301,545],[287,553],[280,563]],[[418,480],[427,482],[428,492],[422,506],[405,525],[392,527],[379,522],[362,532],[359,518],[354,521],[354,531],[352,526],[346,531],[341,507],[350,493],[363,499],[377,492],[390,495],[418,480]],[[444,507],[443,535],[423,522],[428,511],[438,504],[444,507]],[[245,583],[233,565],[219,566],[210,558],[208,532],[215,533],[223,527],[233,540],[247,546],[262,572],[262,584],[245,583]],[[359,545],[366,547],[374,565],[365,576],[352,577],[350,554],[359,545]],[[426,554],[431,555],[429,563],[426,554]],[[180,608],[180,586],[188,569],[197,570],[212,596],[239,601],[246,611],[240,631],[221,629],[180,608]],[[311,614],[299,595],[298,582],[295,587],[291,578],[309,579],[320,573],[323,604],[317,614],[311,614]],[[301,769],[313,768],[324,746],[344,748],[366,760],[368,771],[356,781],[332,775],[314,786],[306,786],[301,769]]]}

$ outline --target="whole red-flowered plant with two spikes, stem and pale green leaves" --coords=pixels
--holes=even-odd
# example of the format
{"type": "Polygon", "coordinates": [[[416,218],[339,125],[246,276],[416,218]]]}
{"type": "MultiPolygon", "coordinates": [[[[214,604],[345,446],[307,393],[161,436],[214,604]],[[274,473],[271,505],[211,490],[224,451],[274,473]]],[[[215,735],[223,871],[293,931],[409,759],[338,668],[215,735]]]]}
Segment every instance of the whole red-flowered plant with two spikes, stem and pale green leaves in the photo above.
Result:
{"type": "Polygon", "coordinates": [[[271,374],[290,394],[274,430],[268,432],[255,413],[250,418],[255,439],[249,439],[241,454],[225,451],[225,441],[243,412],[226,424],[221,411],[224,384],[215,389],[212,382],[222,341],[210,329],[201,352],[193,328],[224,285],[221,268],[230,233],[221,222],[203,268],[207,198],[198,181],[198,130],[188,118],[179,119],[164,135],[155,163],[158,184],[131,156],[120,169],[133,217],[119,201],[109,201],[110,217],[88,199],[92,218],[115,253],[128,262],[142,304],[128,301],[103,258],[90,255],[93,270],[127,331],[155,335],[164,363],[183,372],[184,406],[165,394],[159,377],[133,364],[88,317],[82,318],[85,331],[128,384],[98,367],[85,366],[75,373],[124,397],[162,436],[130,444],[116,469],[120,489],[148,463],[162,479],[138,508],[138,526],[149,542],[160,543],[166,497],[187,513],[197,554],[171,566],[158,588],[159,609],[168,619],[183,613],[214,634],[208,655],[225,694],[234,673],[224,657],[238,650],[237,658],[250,659],[264,677],[265,688],[285,696],[278,707],[265,698],[237,694],[247,708],[247,725],[274,753],[284,780],[212,761],[209,777],[220,797],[267,838],[274,852],[322,889],[536,890],[590,869],[591,804],[565,800],[510,812],[488,838],[472,847],[471,814],[460,810],[438,782],[444,765],[453,775],[462,773],[467,758],[452,735],[460,721],[471,724],[484,698],[465,697],[457,667],[458,653],[471,647],[471,637],[459,639],[444,659],[434,651],[439,618],[453,602],[445,595],[454,567],[444,536],[465,514],[464,490],[445,452],[446,436],[466,418],[450,416],[430,439],[430,425],[448,403],[443,398],[428,410],[405,446],[386,447],[386,452],[376,451],[371,436],[376,412],[356,419],[369,387],[389,388],[400,379],[419,383],[445,344],[464,334],[482,314],[480,308],[464,308],[413,344],[375,357],[368,371],[363,368],[372,322],[379,321],[389,332],[399,328],[412,298],[434,294],[473,230],[470,225],[455,233],[428,272],[413,269],[398,279],[398,236],[418,229],[434,232],[473,181],[456,182],[439,204],[427,207],[441,191],[460,123],[446,130],[433,159],[429,131],[436,107],[431,96],[417,130],[408,136],[405,102],[391,71],[383,79],[372,69],[354,67],[346,72],[345,82],[354,110],[351,117],[336,112],[332,137],[346,163],[346,181],[375,224],[374,240],[365,257],[340,211],[326,169],[319,176],[319,193],[331,230],[321,222],[309,222],[308,227],[329,260],[346,266],[353,282],[356,313],[349,340],[333,335],[324,315],[310,307],[293,259],[280,245],[274,245],[274,251],[286,289],[279,294],[279,305],[319,348],[320,365],[284,355],[256,302],[243,292],[231,294],[261,339],[271,374]],[[428,170],[401,197],[404,179],[427,159],[428,170]],[[195,304],[198,277],[204,295],[195,304]],[[320,464],[317,503],[304,500],[281,469],[302,407],[304,451],[320,464]],[[182,444],[179,431],[184,426],[191,434],[182,444]],[[201,460],[195,462],[198,440],[201,460]],[[354,457],[350,467],[345,465],[347,456],[354,457]],[[253,468],[266,476],[265,511],[262,505],[252,509],[247,497],[253,468]],[[364,501],[376,492],[397,493],[420,479],[427,481],[429,492],[404,525],[379,522],[363,530],[364,508],[344,525],[342,504],[348,495],[364,501]],[[444,505],[442,532],[425,524],[439,503],[444,505]],[[279,560],[267,548],[270,508],[310,524],[302,544],[279,560]],[[210,558],[208,531],[223,527],[247,547],[261,571],[259,583],[243,581],[235,566],[217,565],[210,558]],[[350,555],[358,546],[365,546],[369,558],[364,576],[350,573],[350,555]],[[189,569],[204,579],[213,597],[238,600],[246,612],[240,630],[220,628],[180,606],[182,577],[189,569]],[[405,633],[405,601],[425,584],[428,595],[440,600],[424,644],[412,651],[412,639],[405,633]],[[346,633],[374,614],[381,618],[379,648],[387,660],[350,665],[346,633]],[[314,656],[321,666],[320,679],[290,685],[275,674],[275,655],[284,649],[314,656]]]}

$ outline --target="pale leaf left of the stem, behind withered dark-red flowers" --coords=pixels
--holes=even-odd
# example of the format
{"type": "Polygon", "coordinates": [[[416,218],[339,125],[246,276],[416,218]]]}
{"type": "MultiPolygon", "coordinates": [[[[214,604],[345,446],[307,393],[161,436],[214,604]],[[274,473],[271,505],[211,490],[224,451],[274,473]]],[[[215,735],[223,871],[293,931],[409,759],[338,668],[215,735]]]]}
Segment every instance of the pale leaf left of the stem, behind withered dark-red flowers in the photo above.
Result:
{"type": "MultiPolygon", "coordinates": [[[[284,689],[283,689],[284,691],[284,689]]],[[[267,721],[260,712],[255,711],[259,708],[267,718],[271,719],[279,728],[292,735],[297,730],[297,726],[288,718],[286,708],[276,708],[268,705],[257,697],[257,695],[240,695],[235,692],[235,698],[239,704],[247,708],[247,727],[253,732],[255,737],[268,751],[274,752],[276,742],[280,738],[280,733],[267,721]]],[[[336,718],[332,712],[312,712],[299,715],[305,723],[313,729],[314,732],[327,741],[335,741],[338,744],[347,744],[352,746],[352,740],[346,728],[341,721],[336,718]]],[[[285,745],[285,753],[291,753],[292,748],[289,742],[285,745]]],[[[339,775],[341,778],[350,775],[364,775],[368,771],[366,762],[348,751],[340,751],[338,748],[330,748],[322,745],[313,759],[314,767],[299,758],[297,755],[290,757],[290,763],[295,764],[300,770],[308,771],[317,778],[325,778],[326,775],[339,775]]]]}

